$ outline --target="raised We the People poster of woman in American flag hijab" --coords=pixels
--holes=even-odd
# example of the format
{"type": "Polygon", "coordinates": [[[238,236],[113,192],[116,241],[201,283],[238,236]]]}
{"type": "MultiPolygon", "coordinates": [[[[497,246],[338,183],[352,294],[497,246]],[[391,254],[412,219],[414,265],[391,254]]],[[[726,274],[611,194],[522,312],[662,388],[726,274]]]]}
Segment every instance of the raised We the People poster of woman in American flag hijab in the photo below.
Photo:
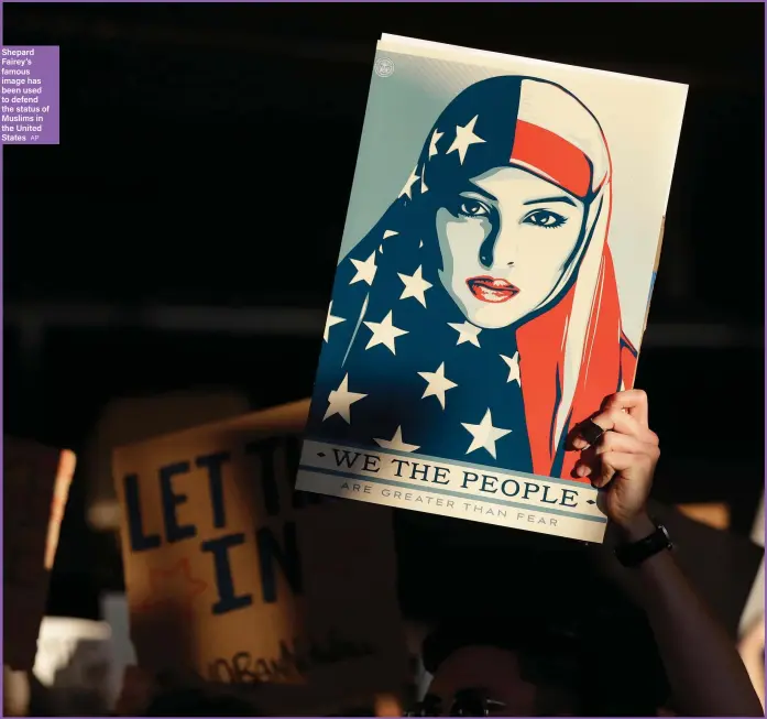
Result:
{"type": "Polygon", "coordinates": [[[687,86],[384,35],[297,486],[602,542],[687,86]]]}

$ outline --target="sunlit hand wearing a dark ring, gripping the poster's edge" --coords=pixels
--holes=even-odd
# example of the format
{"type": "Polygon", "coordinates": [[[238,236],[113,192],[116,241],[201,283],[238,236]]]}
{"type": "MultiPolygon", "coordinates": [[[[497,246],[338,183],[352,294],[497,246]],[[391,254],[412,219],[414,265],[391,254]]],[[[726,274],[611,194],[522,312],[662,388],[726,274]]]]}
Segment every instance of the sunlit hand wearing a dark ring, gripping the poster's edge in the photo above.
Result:
{"type": "Polygon", "coordinates": [[[611,394],[591,422],[604,434],[591,446],[576,428],[572,447],[581,451],[576,473],[604,490],[603,508],[612,522],[643,538],[654,529],[645,506],[660,456],[658,436],[648,425],[647,395],[642,390],[611,394]]]}

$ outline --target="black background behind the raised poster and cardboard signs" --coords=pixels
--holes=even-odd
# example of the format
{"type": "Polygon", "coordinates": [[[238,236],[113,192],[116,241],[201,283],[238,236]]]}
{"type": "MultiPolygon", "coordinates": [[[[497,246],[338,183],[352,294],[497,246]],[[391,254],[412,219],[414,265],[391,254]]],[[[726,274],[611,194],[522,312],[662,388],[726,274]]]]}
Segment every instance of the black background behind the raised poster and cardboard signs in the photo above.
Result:
{"type": "MultiPolygon", "coordinates": [[[[662,440],[657,498],[724,501],[749,531],[764,484],[763,3],[2,12],[4,44],[62,48],[61,145],[2,150],[7,434],[78,450],[114,396],[226,385],[261,408],[310,393],[390,32],[690,85],[637,385],[662,440]],[[295,177],[300,203],[281,190],[295,177]]],[[[84,497],[76,478],[53,613],[95,606],[84,497]]],[[[434,541],[498,536],[427,524],[434,541]]]]}

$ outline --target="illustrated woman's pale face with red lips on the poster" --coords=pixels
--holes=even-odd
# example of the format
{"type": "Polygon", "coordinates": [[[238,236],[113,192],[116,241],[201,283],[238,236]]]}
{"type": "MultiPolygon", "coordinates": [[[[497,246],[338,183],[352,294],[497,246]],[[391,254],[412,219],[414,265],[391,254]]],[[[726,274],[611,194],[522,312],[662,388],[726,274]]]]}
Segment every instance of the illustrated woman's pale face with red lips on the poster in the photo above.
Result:
{"type": "Polygon", "coordinates": [[[507,327],[545,306],[573,261],[581,200],[518,167],[474,177],[437,211],[440,280],[467,319],[507,327]]]}

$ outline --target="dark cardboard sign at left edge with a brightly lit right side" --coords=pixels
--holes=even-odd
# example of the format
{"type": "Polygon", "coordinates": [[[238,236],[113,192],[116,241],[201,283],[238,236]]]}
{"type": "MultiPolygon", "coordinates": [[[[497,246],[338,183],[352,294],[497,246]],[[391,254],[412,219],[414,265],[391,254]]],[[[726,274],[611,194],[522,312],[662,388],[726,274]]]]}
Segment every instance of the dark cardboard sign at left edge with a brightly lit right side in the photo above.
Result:
{"type": "Polygon", "coordinates": [[[3,663],[31,671],[76,458],[9,437],[4,453],[3,663]]]}

